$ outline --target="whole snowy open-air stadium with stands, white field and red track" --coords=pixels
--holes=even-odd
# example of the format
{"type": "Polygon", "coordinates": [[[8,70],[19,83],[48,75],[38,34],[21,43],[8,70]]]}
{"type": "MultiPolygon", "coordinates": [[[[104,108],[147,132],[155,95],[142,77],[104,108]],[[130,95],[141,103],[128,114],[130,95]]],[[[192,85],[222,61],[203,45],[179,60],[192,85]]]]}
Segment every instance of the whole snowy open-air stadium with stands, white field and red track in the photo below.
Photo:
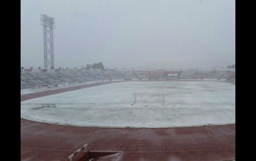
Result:
{"type": "Polygon", "coordinates": [[[21,160],[70,155],[234,160],[235,71],[21,69],[21,160]]]}

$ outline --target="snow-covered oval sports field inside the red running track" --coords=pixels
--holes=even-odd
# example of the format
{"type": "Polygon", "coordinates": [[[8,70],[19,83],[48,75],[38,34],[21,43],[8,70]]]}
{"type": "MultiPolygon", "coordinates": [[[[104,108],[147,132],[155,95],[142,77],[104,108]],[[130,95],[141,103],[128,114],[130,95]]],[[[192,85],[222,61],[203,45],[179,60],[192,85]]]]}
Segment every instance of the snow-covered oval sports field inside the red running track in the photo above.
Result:
{"type": "Polygon", "coordinates": [[[184,127],[235,123],[235,85],[223,82],[117,82],[21,102],[21,118],[100,127],[184,127]],[[134,101],[135,92],[164,93],[134,101]],[[162,99],[162,98],[161,98],[162,99]],[[52,103],[56,107],[42,107],[52,103]]]}

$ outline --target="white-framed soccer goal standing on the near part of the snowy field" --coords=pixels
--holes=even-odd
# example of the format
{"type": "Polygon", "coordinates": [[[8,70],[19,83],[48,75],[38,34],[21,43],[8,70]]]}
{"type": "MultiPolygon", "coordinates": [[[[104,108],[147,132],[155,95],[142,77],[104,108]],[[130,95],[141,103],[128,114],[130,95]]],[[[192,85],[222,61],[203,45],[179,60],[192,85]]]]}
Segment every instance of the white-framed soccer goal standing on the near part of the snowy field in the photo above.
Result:
{"type": "Polygon", "coordinates": [[[155,93],[155,92],[136,92],[136,93],[133,93],[132,105],[135,103],[143,103],[143,104],[162,103],[162,105],[164,105],[165,94],[155,93]]]}

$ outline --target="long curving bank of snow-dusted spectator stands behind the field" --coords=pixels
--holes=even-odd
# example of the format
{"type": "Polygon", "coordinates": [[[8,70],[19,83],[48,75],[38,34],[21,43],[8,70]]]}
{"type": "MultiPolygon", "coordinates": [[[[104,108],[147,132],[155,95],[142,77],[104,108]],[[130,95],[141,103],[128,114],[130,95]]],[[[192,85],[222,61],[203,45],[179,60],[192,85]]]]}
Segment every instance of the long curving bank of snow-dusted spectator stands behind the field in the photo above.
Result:
{"type": "MultiPolygon", "coordinates": [[[[48,69],[49,70],[49,69],[48,69]]],[[[89,81],[167,79],[176,74],[179,79],[235,79],[235,71],[100,71],[100,70],[49,70],[24,72],[21,70],[21,89],[47,85],[62,86],[64,83],[86,83],[89,81]]],[[[28,71],[28,70],[27,70],[28,71]]],[[[45,87],[44,87],[45,88],[45,87]]]]}

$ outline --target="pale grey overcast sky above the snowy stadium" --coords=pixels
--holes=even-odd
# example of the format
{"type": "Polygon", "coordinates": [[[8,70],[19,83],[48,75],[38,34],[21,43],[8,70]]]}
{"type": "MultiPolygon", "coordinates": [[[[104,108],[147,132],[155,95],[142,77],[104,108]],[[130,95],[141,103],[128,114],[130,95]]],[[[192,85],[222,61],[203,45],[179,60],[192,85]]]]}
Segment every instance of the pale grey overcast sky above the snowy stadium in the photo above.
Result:
{"type": "Polygon", "coordinates": [[[44,67],[40,14],[55,18],[55,68],[221,68],[235,63],[235,0],[21,0],[21,66],[44,67]]]}

